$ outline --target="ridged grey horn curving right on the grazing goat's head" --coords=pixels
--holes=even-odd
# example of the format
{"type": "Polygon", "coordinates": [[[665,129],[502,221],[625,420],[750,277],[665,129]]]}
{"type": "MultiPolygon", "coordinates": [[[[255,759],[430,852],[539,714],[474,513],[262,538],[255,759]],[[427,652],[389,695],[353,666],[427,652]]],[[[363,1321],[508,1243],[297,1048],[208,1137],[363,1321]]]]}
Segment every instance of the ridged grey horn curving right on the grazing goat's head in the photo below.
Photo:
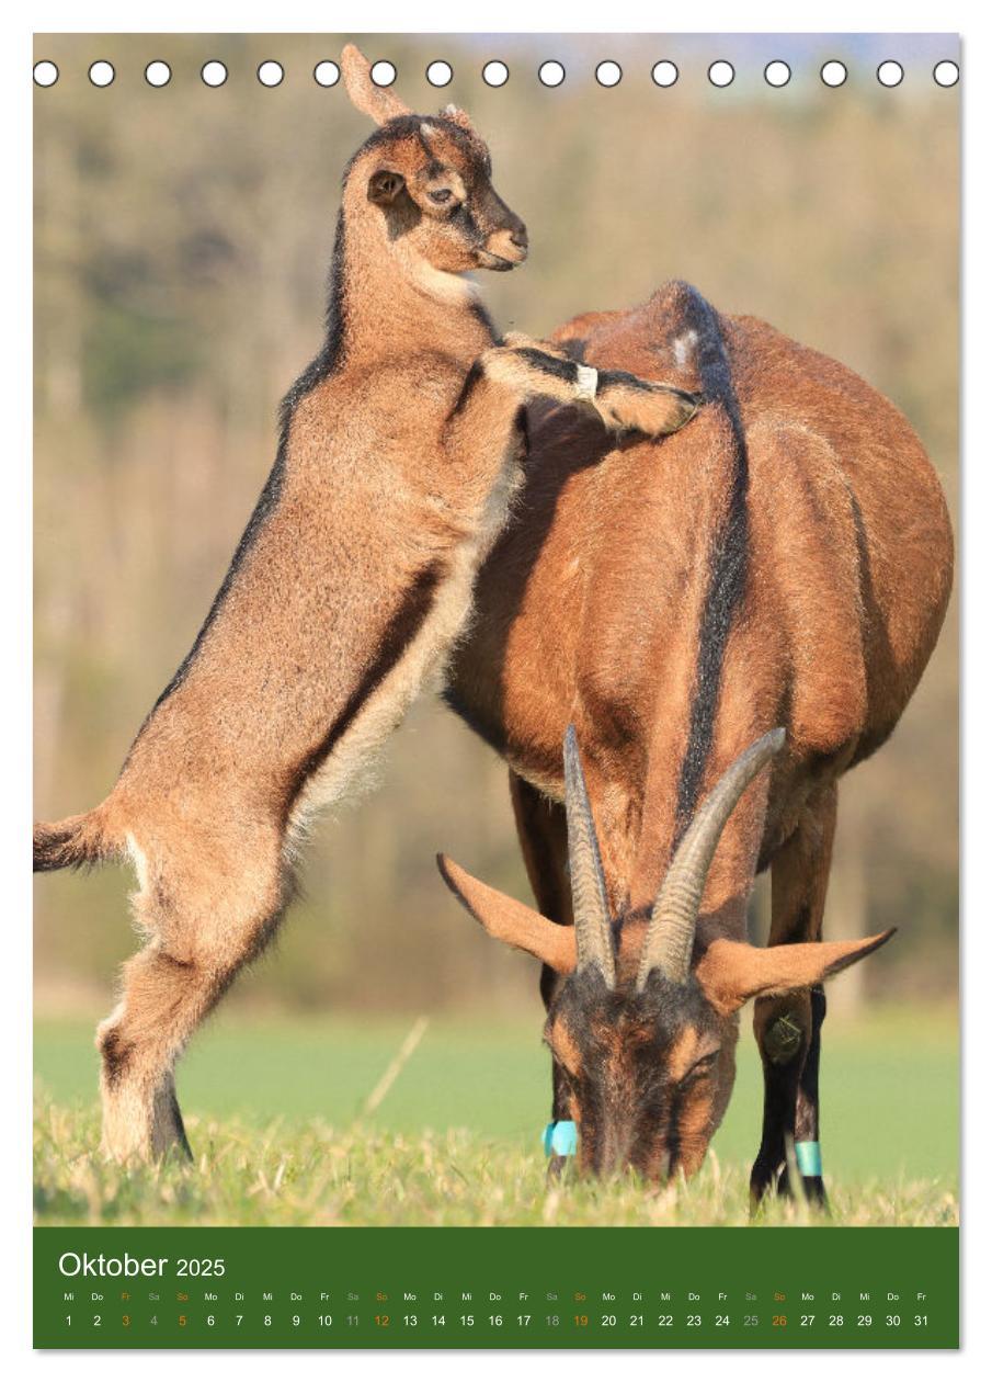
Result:
{"type": "Polygon", "coordinates": [[[771,763],[783,744],[785,730],[771,730],[752,744],[731,763],[696,811],[651,912],[637,970],[638,991],[655,969],[677,984],[684,984],[689,977],[699,904],[720,836],[752,781],[771,763]]]}

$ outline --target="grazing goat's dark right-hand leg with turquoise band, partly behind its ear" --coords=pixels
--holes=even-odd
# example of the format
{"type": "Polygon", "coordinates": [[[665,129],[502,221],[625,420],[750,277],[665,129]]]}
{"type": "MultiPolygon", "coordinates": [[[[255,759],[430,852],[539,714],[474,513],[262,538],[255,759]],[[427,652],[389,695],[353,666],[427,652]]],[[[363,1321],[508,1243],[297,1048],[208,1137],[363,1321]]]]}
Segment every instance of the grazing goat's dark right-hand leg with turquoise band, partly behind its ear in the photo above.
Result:
{"type": "MultiPolygon", "coordinates": [[[[836,818],[837,788],[830,785],[807,804],[796,833],[775,855],[770,945],[822,938],[836,818]]],[[[826,995],[819,984],[754,1003],[754,1036],[764,1068],[761,1147],[750,1176],[754,1204],[771,1189],[790,1194],[788,1136],[796,1143],[807,1200],[826,1204],[819,1158],[819,1035],[825,1016],[826,995]]]]}

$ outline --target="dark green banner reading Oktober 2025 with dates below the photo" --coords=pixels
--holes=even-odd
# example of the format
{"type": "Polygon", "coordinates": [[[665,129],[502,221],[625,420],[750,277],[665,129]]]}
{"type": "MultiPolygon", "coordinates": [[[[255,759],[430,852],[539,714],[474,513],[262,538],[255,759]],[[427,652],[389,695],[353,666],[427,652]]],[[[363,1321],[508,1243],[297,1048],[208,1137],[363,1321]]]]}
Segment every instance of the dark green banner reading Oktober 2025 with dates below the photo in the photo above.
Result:
{"type": "Polygon", "coordinates": [[[956,1229],[36,1229],[41,1349],[955,1349],[956,1229]]]}

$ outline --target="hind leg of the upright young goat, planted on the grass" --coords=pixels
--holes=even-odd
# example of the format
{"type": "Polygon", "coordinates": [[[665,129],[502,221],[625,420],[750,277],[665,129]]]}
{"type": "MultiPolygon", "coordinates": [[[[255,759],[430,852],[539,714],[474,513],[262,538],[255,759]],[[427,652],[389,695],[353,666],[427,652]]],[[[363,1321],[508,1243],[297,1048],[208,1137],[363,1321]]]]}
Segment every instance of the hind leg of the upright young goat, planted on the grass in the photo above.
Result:
{"type": "Polygon", "coordinates": [[[159,875],[151,896],[137,900],[140,920],[153,938],[124,965],[120,1002],[97,1030],[102,1150],[115,1161],[151,1161],[171,1151],[191,1155],[174,1066],[278,922],[282,879],[275,864],[258,864],[260,853],[245,855],[253,864],[240,873],[218,865],[209,879],[202,865],[196,871],[173,865],[159,875]],[[271,876],[261,879],[260,872],[271,876]],[[169,907],[159,901],[158,915],[149,915],[156,896],[181,901],[169,907]]]}

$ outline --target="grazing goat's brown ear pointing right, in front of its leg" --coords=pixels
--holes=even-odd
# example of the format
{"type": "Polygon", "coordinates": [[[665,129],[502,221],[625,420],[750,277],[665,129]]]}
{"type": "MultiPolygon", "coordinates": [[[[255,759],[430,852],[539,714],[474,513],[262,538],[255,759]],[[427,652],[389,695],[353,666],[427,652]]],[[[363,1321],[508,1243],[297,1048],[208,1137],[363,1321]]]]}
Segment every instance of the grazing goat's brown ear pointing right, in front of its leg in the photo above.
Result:
{"type": "Polygon", "coordinates": [[[695,967],[703,995],[718,1013],[732,1013],[749,998],[812,988],[857,965],[895,934],[895,927],[859,941],[810,941],[797,945],[746,945],[713,941],[695,967]]]}

